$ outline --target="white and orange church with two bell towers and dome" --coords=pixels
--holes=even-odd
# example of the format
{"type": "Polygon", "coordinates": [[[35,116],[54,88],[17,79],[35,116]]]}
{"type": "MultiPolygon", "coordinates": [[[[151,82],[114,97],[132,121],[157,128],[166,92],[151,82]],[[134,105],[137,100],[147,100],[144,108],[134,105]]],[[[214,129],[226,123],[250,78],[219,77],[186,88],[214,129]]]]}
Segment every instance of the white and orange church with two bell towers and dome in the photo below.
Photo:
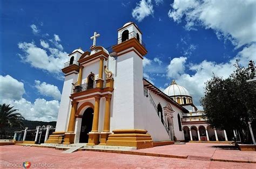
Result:
{"type": "Polygon", "coordinates": [[[99,36],[91,37],[90,51],[78,48],[67,58],[56,131],[46,143],[143,149],[157,142],[210,140],[203,114],[184,87],[172,81],[161,91],[143,78],[147,50],[136,24],[120,27],[117,44],[109,48],[96,45],[99,36]]]}

